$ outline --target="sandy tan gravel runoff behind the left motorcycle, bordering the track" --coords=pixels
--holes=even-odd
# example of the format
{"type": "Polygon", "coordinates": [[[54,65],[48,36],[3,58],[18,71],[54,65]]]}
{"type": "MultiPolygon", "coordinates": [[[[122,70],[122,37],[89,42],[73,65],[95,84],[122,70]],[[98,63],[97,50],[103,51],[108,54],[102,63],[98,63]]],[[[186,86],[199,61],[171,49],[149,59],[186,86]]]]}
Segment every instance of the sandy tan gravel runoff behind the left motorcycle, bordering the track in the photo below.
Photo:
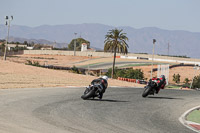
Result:
{"type": "MultiPolygon", "coordinates": [[[[0,89],[88,86],[95,78],[98,77],[0,60],[0,89]]],[[[108,83],[109,86],[144,86],[115,79],[109,79],[108,83]]]]}

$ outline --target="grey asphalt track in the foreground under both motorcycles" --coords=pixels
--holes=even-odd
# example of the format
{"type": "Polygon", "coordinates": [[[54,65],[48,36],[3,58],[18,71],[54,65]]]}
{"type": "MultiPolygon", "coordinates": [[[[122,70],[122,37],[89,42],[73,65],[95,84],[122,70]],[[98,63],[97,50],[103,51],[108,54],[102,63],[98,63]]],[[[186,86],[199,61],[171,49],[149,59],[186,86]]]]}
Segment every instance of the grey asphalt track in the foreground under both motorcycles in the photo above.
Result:
{"type": "Polygon", "coordinates": [[[102,100],[82,100],[84,88],[0,90],[1,133],[192,133],[179,122],[200,104],[200,91],[108,88],[102,100]]]}

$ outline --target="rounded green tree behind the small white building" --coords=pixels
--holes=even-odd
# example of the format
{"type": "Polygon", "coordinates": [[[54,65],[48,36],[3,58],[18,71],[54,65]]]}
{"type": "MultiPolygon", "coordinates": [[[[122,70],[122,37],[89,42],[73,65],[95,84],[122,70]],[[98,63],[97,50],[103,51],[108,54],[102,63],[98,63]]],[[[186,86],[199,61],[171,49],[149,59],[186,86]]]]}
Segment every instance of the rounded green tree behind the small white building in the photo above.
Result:
{"type": "Polygon", "coordinates": [[[81,51],[81,44],[82,43],[86,43],[87,47],[90,48],[90,42],[83,39],[83,38],[77,38],[77,39],[73,39],[70,44],[68,44],[68,49],[69,50],[74,50],[74,41],[76,40],[76,50],[77,51],[81,51]]]}

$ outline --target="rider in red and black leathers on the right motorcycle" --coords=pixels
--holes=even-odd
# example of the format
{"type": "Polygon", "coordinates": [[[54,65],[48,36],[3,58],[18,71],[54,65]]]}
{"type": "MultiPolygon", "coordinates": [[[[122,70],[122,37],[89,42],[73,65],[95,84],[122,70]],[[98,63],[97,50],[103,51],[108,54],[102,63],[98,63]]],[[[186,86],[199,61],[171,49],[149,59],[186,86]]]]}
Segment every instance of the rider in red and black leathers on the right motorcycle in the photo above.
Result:
{"type": "Polygon", "coordinates": [[[166,78],[165,75],[161,75],[160,78],[152,78],[154,82],[157,83],[156,94],[160,91],[160,89],[164,89],[166,85],[166,78]]]}

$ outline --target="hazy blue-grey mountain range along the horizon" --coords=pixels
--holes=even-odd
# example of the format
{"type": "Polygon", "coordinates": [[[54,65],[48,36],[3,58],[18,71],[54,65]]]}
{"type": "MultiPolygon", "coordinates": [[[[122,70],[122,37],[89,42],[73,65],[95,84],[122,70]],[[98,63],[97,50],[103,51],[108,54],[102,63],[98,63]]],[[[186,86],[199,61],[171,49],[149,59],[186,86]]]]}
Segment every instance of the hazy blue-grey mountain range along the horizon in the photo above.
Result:
{"type": "MultiPolygon", "coordinates": [[[[66,25],[42,25],[38,27],[27,27],[12,25],[10,36],[14,38],[26,38],[31,40],[45,40],[58,47],[66,47],[76,37],[83,37],[91,42],[91,47],[103,49],[106,33],[113,29],[123,29],[129,38],[129,52],[152,53],[152,40],[156,39],[156,54],[186,55],[200,58],[200,33],[164,30],[156,27],[135,29],[132,27],[113,27],[103,24],[66,24],[66,25]]],[[[7,27],[0,25],[0,38],[5,38],[7,27]]],[[[49,44],[48,43],[48,44],[49,44]]]]}

